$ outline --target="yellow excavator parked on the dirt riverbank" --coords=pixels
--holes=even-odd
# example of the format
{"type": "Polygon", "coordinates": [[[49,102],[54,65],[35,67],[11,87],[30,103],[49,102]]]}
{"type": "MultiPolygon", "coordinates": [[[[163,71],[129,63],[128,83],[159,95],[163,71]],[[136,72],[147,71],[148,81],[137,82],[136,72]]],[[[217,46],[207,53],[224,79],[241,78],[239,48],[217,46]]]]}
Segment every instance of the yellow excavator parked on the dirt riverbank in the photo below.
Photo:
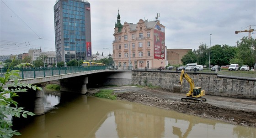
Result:
{"type": "Polygon", "coordinates": [[[183,78],[185,78],[187,80],[187,82],[189,83],[190,90],[186,94],[187,97],[181,98],[181,101],[198,102],[198,103],[205,102],[207,99],[203,97],[205,95],[204,90],[202,90],[201,87],[195,87],[194,81],[192,80],[191,77],[188,76],[188,74],[184,70],[181,70],[181,77],[180,77],[179,85],[175,85],[174,89],[181,90],[183,78]]]}

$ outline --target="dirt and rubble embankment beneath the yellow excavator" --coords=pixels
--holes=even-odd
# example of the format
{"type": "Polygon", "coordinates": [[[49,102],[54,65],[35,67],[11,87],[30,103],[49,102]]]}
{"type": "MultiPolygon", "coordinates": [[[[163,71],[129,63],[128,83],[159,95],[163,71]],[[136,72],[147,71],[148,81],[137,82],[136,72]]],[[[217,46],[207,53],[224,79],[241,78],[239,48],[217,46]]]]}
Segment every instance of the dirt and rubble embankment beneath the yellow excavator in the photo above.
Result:
{"type": "MultiPolygon", "coordinates": [[[[107,89],[115,90],[117,100],[138,102],[202,118],[256,128],[256,100],[206,96],[207,102],[193,103],[181,102],[181,97],[185,97],[186,94],[172,93],[159,89],[132,87],[112,87],[107,89]]],[[[88,92],[93,95],[96,91],[88,90],[88,92]]]]}

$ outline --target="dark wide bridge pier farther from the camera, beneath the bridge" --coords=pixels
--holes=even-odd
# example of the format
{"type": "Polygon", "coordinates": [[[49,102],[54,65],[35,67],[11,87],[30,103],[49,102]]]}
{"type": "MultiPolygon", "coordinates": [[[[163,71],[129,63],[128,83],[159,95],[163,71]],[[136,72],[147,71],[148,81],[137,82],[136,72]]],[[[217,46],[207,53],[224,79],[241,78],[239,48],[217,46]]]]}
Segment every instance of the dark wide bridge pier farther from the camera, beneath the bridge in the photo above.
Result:
{"type": "Polygon", "coordinates": [[[60,91],[62,92],[76,92],[81,94],[87,92],[86,84],[88,84],[88,77],[86,76],[70,77],[59,81],[60,91]]]}

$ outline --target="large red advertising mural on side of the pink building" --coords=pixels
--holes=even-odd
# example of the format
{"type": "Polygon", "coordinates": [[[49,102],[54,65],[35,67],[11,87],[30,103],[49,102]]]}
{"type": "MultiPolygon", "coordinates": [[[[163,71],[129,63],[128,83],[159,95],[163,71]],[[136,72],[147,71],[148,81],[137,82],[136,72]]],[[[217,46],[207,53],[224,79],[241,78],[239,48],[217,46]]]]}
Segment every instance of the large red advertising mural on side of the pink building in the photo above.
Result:
{"type": "Polygon", "coordinates": [[[159,25],[154,28],[154,58],[165,59],[165,28],[159,25]]]}

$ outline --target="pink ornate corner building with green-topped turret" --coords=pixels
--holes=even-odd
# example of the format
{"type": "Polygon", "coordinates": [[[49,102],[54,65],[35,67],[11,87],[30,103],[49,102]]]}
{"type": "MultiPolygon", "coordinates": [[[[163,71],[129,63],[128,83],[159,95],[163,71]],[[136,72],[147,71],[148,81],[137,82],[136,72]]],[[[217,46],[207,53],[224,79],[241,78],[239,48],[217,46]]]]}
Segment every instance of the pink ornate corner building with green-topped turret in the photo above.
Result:
{"type": "Polygon", "coordinates": [[[114,30],[113,61],[119,68],[149,69],[165,66],[165,26],[159,20],[140,19],[121,24],[118,10],[114,30]]]}

